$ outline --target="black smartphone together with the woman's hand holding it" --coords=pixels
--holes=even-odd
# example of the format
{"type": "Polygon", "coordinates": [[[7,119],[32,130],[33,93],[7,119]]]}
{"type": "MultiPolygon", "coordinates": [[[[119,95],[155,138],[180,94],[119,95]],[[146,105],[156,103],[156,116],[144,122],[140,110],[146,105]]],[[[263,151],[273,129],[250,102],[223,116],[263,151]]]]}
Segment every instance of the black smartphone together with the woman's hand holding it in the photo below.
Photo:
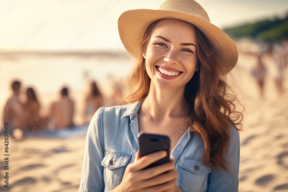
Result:
{"type": "Polygon", "coordinates": [[[135,160],[128,164],[121,183],[112,191],[181,191],[175,184],[178,173],[174,159],[170,157],[168,137],[140,132],[138,138],[139,149],[135,160]]]}

